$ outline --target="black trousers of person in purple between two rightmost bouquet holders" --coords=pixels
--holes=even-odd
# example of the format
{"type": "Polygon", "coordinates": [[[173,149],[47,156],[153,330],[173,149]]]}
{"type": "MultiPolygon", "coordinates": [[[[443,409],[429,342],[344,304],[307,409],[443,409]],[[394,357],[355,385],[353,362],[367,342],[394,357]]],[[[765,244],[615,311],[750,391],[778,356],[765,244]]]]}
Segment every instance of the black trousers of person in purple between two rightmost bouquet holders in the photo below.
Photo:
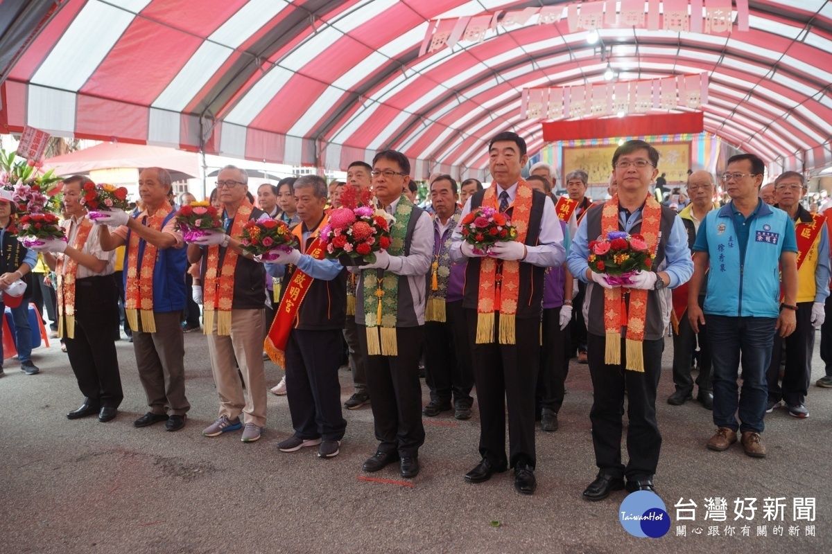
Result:
{"type": "Polygon", "coordinates": [[[568,360],[564,360],[561,331],[561,309],[544,308],[542,321],[543,344],[540,347],[540,369],[537,371],[537,391],[534,395],[535,413],[543,408],[559,412],[563,405],[563,384],[567,380],[568,360]]]}

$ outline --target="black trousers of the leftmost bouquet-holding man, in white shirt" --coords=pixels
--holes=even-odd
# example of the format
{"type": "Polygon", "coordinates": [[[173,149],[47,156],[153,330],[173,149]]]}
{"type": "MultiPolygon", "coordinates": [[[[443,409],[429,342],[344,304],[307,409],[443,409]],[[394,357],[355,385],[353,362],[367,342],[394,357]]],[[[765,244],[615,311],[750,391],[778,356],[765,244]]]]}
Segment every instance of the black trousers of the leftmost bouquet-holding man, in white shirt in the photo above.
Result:
{"type": "Polygon", "coordinates": [[[124,399],[116,343],[116,282],[111,275],[75,282],[75,337],[65,338],[78,388],[92,405],[117,408],[124,399]]]}

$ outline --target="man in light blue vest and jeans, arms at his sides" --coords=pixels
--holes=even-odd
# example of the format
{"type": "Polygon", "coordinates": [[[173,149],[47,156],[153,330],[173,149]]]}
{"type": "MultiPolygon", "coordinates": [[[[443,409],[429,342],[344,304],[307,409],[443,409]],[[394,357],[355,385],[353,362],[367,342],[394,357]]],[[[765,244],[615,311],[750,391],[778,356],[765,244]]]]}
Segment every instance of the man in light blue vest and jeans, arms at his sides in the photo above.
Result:
{"type": "Polygon", "coordinates": [[[765,429],[765,370],[771,361],[771,345],[775,332],[786,337],[795,331],[798,309],[795,225],[787,213],[759,198],[764,171],[763,160],[755,154],[728,159],[722,182],[730,202],[708,213],[700,225],[687,297],[691,328],[699,332],[707,321],[711,345],[717,429],[706,446],[727,450],[737,441],[739,430],[745,453],[754,458],[765,458],[760,434],[765,429]],[[700,307],[706,271],[708,290],[700,307]],[[782,303],[778,271],[783,281],[782,303]],[[742,390],[738,395],[740,360],[742,390]]]}

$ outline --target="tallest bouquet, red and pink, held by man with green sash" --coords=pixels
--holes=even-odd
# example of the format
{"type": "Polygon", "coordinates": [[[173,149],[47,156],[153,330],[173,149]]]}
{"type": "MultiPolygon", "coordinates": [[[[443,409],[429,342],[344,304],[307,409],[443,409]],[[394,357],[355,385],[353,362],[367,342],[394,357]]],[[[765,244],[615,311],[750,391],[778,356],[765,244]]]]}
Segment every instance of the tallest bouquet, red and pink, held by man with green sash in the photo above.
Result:
{"type": "Polygon", "coordinates": [[[355,207],[356,190],[344,189],[344,208],[329,212],[329,222],[321,229],[321,242],[326,244],[326,257],[338,259],[344,266],[361,266],[375,262],[375,252],[390,246],[391,217],[372,205],[372,193],[364,189],[360,204],[355,207]]]}

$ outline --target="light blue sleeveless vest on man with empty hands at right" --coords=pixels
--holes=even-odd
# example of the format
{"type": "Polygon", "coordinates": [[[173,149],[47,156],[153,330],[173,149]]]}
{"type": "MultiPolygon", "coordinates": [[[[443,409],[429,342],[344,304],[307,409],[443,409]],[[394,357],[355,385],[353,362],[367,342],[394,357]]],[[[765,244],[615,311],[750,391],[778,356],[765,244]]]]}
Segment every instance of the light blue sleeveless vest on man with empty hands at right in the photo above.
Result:
{"type": "Polygon", "coordinates": [[[729,317],[777,317],[780,314],[783,238],[785,233],[795,232],[789,215],[765,203],[760,206],[750,223],[745,260],[740,260],[732,204],[711,210],[705,221],[711,266],[705,313],[729,317]]]}

